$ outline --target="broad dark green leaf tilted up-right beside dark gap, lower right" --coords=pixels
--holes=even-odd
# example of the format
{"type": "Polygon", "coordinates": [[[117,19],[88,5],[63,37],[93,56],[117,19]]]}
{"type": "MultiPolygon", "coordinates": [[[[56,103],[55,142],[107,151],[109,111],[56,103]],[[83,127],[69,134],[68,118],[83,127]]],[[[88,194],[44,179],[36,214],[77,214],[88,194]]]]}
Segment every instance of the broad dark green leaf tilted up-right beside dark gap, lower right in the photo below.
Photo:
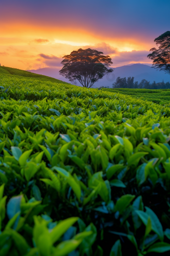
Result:
{"type": "Polygon", "coordinates": [[[134,195],[123,195],[115,203],[114,211],[119,211],[121,214],[129,203],[134,199],[134,195]]]}

